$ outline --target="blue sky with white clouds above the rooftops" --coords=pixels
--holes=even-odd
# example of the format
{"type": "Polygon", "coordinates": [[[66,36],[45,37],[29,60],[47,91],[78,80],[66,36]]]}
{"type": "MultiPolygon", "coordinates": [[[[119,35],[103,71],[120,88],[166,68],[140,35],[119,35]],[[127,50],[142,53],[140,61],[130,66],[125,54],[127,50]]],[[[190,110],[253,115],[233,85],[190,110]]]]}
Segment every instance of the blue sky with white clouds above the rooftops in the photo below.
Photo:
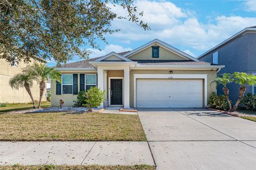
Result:
{"type": "MultiPolygon", "coordinates": [[[[236,32],[256,25],[256,0],[253,1],[136,1],[141,18],[151,30],[144,31],[134,23],[116,19],[113,29],[121,31],[107,35],[108,44],[98,40],[101,50],[91,51],[90,58],[112,51],[123,52],[158,38],[197,57],[236,32]]],[[[121,6],[109,6],[118,15],[126,16],[121,6]]],[[[73,58],[75,62],[79,57],[73,58]]],[[[51,61],[47,65],[54,66],[51,61]]]]}

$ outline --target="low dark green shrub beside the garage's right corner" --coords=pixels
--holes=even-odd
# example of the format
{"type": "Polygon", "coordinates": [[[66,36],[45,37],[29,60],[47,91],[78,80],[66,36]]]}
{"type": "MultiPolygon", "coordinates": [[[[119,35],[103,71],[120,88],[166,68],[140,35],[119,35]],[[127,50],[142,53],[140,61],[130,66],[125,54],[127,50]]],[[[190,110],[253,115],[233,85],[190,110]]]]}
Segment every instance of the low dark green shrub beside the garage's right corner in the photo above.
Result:
{"type": "Polygon", "coordinates": [[[212,108],[219,109],[222,111],[227,111],[229,109],[228,102],[225,96],[218,96],[215,92],[211,94],[208,105],[210,105],[212,108]]]}

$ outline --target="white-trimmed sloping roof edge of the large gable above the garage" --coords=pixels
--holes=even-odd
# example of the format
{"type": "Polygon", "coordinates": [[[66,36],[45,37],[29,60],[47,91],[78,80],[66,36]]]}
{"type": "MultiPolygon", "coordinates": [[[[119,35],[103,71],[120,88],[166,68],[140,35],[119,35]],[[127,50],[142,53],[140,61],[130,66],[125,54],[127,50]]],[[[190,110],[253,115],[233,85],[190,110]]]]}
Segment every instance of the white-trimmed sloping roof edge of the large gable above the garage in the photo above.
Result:
{"type": "Polygon", "coordinates": [[[170,50],[171,52],[183,57],[183,58],[186,58],[187,60],[192,60],[192,61],[198,61],[197,58],[193,57],[193,56],[190,56],[188,55],[187,53],[184,53],[182,52],[181,50],[167,44],[167,43],[164,43],[163,41],[159,40],[159,39],[154,39],[152,41],[149,41],[149,43],[146,43],[145,45],[142,45],[138,48],[135,48],[133,50],[131,50],[129,53],[126,53],[124,54],[124,57],[126,58],[129,58],[130,56],[132,56],[133,54],[136,54],[138,52],[140,52],[141,50],[145,49],[145,48],[148,48],[150,47],[151,45],[154,45],[154,44],[158,44],[159,46],[162,46],[163,48],[166,48],[167,50],[170,50]]]}

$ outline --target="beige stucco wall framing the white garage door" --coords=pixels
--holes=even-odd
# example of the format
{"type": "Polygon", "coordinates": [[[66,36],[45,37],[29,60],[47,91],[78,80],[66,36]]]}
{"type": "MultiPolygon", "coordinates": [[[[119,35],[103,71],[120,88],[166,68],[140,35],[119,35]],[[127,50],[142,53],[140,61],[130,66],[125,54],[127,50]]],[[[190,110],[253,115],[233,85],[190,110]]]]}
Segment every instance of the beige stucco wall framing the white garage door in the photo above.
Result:
{"type": "MultiPolygon", "coordinates": [[[[170,70],[131,70],[130,71],[130,107],[134,106],[133,103],[133,97],[134,97],[134,77],[133,74],[169,74],[170,70]]],[[[213,81],[213,79],[217,76],[216,71],[211,70],[173,70],[173,74],[207,74],[207,98],[209,99],[209,96],[212,92],[216,92],[215,86],[212,84],[210,86],[210,83],[213,81]]],[[[204,86],[203,86],[204,87],[204,86]]],[[[203,89],[204,91],[204,89],[203,89]]],[[[204,94],[203,94],[204,97],[204,94]]],[[[204,100],[203,100],[204,101],[204,100]]],[[[204,104],[205,106],[205,104],[204,104]]]]}

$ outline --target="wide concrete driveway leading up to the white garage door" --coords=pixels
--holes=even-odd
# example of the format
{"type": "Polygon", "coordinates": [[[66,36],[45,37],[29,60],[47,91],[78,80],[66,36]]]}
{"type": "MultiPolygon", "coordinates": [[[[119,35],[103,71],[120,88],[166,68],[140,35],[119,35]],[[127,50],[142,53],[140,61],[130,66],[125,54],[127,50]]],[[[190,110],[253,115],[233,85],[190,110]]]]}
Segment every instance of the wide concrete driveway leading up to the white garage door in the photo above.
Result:
{"type": "Polygon", "coordinates": [[[157,169],[255,169],[256,122],[208,109],[138,109],[157,169]]]}

